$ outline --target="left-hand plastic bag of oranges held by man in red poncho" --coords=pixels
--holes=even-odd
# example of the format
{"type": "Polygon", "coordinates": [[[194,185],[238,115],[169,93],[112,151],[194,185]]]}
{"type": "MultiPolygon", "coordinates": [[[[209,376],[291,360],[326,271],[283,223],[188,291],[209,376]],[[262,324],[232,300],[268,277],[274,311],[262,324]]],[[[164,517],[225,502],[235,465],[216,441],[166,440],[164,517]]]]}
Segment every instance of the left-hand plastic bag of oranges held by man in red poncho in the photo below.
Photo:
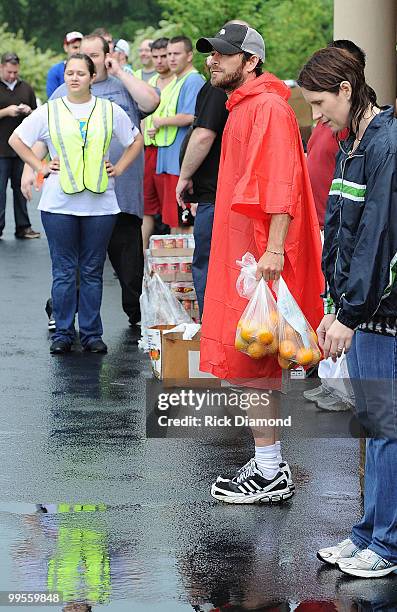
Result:
{"type": "Polygon", "coordinates": [[[252,359],[276,355],[278,350],[277,304],[261,279],[237,324],[235,348],[252,359]]]}

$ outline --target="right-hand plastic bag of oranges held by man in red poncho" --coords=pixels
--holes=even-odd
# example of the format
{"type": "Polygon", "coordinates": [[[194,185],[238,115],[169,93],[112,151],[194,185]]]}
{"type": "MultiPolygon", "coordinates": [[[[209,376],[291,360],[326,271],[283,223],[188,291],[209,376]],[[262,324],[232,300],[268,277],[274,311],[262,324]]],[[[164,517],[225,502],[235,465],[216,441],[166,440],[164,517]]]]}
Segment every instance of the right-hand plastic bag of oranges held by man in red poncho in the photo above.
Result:
{"type": "Polygon", "coordinates": [[[316,332],[305,318],[281,277],[277,289],[279,314],[278,362],[288,370],[297,365],[314,366],[321,359],[316,332]]]}

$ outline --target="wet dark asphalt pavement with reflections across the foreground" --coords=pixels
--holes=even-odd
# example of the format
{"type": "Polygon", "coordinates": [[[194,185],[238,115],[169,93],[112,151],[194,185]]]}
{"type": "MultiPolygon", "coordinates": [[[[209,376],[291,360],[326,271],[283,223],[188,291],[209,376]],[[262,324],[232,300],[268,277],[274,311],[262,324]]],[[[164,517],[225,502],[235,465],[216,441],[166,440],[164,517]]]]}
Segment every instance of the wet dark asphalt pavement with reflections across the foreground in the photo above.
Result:
{"type": "MultiPolygon", "coordinates": [[[[108,264],[106,356],[49,354],[46,239],[15,240],[10,210],[0,288],[1,591],[58,590],[115,612],[397,609],[397,578],[350,580],[315,555],[360,516],[357,440],[290,432],[291,501],[217,503],[211,482],[247,461],[250,438],[146,439],[148,358],[108,264]]],[[[288,409],[323,418],[300,397],[288,409]]]]}

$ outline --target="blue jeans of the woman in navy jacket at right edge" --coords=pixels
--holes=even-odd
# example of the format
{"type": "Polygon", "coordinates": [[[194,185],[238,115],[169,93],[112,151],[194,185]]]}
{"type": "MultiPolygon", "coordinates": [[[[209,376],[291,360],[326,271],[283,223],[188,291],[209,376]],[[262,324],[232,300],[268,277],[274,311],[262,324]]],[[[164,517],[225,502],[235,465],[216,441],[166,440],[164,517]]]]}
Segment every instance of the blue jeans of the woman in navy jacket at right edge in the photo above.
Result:
{"type": "Polygon", "coordinates": [[[347,364],[356,415],[376,435],[367,439],[364,516],[351,539],[397,564],[397,339],[356,331],[347,364]]]}

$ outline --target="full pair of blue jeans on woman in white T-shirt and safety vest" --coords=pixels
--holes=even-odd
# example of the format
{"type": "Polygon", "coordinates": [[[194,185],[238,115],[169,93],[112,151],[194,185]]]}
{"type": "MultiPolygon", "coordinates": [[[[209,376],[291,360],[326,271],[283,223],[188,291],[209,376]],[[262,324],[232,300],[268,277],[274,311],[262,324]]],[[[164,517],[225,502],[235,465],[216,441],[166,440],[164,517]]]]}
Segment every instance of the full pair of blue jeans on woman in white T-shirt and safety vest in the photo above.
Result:
{"type": "Polygon", "coordinates": [[[42,211],[52,262],[53,340],[72,344],[77,308],[76,273],[80,273],[78,318],[80,340],[87,346],[103,333],[100,308],[106,249],[117,215],[77,217],[42,211]]]}

